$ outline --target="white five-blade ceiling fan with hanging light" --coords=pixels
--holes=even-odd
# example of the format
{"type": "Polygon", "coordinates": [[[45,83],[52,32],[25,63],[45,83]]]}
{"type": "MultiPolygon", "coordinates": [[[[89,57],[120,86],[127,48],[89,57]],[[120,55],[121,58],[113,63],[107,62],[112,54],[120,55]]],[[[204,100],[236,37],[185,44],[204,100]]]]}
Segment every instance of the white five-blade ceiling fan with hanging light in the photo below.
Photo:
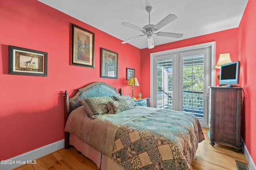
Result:
{"type": "Polygon", "coordinates": [[[177,17],[176,17],[176,15],[169,14],[163,20],[158,22],[156,25],[153,25],[153,24],[150,24],[150,12],[152,12],[152,10],[153,10],[153,7],[151,7],[151,6],[146,7],[146,11],[148,12],[149,24],[145,25],[143,28],[138,27],[136,25],[132,25],[132,24],[127,23],[127,22],[121,23],[121,25],[124,25],[126,27],[130,27],[130,28],[142,31],[142,35],[138,35],[136,37],[133,37],[131,39],[123,41],[122,44],[128,43],[128,42],[132,41],[133,39],[135,39],[137,37],[143,37],[144,35],[147,35],[148,48],[152,49],[152,48],[154,48],[153,34],[155,34],[157,36],[161,36],[161,37],[171,37],[171,38],[181,38],[181,37],[183,37],[183,34],[180,34],[180,33],[156,32],[158,29],[160,29],[160,28],[164,27],[165,25],[167,25],[168,23],[176,20],[177,17]]]}

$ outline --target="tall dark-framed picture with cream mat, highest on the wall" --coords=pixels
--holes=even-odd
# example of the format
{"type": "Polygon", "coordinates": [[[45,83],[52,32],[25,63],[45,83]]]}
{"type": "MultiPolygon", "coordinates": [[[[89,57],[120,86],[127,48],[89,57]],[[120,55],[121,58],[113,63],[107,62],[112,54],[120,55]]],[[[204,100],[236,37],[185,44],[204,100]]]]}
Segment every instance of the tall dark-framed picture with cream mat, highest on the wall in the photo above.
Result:
{"type": "Polygon", "coordinates": [[[94,33],[71,23],[70,64],[94,68],[94,33]]]}

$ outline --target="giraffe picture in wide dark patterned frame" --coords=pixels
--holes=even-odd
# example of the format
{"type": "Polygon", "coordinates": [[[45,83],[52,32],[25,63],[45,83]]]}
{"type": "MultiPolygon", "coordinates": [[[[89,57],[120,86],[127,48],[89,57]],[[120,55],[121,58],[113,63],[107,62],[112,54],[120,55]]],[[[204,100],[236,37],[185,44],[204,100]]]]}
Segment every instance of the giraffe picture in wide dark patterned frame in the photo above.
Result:
{"type": "Polygon", "coordinates": [[[9,45],[9,74],[47,76],[48,54],[9,45]]]}

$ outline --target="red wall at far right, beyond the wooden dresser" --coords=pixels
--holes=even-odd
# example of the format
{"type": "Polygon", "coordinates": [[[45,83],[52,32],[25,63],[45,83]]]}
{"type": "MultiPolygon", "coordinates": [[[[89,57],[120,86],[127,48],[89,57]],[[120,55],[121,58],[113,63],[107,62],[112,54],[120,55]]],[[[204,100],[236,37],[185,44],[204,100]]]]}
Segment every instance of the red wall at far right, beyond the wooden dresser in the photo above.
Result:
{"type": "Polygon", "coordinates": [[[249,0],[239,25],[238,54],[241,61],[240,84],[245,92],[244,119],[245,145],[256,164],[256,1],[249,0]]]}

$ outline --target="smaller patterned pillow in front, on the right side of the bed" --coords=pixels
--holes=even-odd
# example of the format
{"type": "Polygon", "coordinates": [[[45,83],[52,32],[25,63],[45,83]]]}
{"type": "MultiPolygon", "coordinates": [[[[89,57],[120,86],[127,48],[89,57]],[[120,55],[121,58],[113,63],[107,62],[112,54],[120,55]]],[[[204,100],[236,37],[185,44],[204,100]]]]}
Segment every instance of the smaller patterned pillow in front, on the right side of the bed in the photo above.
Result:
{"type": "Polygon", "coordinates": [[[108,102],[108,114],[116,114],[120,113],[121,111],[133,109],[132,103],[129,99],[126,100],[117,100],[114,102],[108,102]]]}

